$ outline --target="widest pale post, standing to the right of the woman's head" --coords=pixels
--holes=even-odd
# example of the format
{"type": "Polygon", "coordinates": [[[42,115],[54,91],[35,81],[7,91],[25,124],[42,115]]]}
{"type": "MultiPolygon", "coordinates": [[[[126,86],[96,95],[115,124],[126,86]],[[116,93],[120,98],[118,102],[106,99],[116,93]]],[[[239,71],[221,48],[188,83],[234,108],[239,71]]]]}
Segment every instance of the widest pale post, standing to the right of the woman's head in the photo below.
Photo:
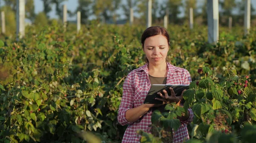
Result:
{"type": "Polygon", "coordinates": [[[218,0],[207,0],[208,42],[216,43],[219,39],[218,0]]]}

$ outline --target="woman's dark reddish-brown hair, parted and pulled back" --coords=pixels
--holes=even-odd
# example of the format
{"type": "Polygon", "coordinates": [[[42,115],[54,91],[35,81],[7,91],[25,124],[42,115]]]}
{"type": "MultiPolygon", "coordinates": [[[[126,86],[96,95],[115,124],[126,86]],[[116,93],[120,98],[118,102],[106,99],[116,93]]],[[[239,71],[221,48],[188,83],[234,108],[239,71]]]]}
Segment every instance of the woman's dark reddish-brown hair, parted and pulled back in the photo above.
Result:
{"type": "MultiPolygon", "coordinates": [[[[166,37],[167,41],[168,41],[168,45],[169,45],[169,34],[166,30],[166,28],[163,28],[163,27],[160,27],[160,26],[151,26],[149,28],[147,28],[142,36],[141,36],[141,44],[142,44],[142,48],[144,48],[144,42],[145,40],[148,38],[148,37],[151,37],[151,36],[156,36],[156,35],[163,35],[166,37]]],[[[168,61],[168,59],[166,58],[166,61],[168,61]]],[[[147,57],[145,57],[145,62],[148,62],[148,59],[147,57]]]]}

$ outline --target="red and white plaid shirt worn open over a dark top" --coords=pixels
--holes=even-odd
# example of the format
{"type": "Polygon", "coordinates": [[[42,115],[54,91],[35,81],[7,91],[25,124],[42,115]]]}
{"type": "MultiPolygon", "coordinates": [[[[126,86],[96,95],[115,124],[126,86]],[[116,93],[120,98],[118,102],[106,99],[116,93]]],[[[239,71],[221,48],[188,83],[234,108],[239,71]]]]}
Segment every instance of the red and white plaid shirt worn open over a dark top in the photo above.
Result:
{"type": "MultiPolygon", "coordinates": [[[[189,84],[191,76],[188,70],[175,67],[167,62],[167,82],[166,84],[189,84]]],[[[122,143],[140,143],[140,136],[137,130],[151,133],[151,115],[152,109],[149,109],[139,120],[130,123],[125,118],[125,112],[128,109],[138,107],[143,104],[151,83],[148,78],[148,63],[132,70],[123,84],[122,101],[118,110],[118,122],[124,126],[129,124],[122,139],[122,143]]],[[[189,139],[189,133],[186,124],[193,120],[192,109],[188,109],[189,118],[187,121],[180,121],[181,126],[177,131],[173,131],[173,143],[180,143],[189,139]]]]}

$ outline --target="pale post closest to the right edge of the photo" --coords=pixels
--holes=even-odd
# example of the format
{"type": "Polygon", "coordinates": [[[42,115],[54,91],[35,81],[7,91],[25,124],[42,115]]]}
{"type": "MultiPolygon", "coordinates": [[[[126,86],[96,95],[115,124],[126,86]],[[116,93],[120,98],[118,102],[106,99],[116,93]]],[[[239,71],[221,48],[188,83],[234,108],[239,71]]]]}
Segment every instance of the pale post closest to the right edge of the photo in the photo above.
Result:
{"type": "Polygon", "coordinates": [[[244,8],[244,34],[250,33],[250,0],[245,0],[244,8]]]}

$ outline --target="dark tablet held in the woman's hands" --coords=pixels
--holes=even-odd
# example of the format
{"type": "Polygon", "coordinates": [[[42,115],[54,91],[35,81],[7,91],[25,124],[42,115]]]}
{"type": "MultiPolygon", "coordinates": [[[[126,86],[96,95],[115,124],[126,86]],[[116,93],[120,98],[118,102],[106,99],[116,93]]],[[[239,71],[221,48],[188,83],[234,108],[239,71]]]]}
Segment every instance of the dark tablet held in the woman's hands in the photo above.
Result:
{"type": "Polygon", "coordinates": [[[169,87],[172,87],[176,96],[180,96],[183,90],[189,89],[189,84],[152,84],[144,104],[163,104],[163,101],[154,98],[161,98],[157,93],[161,92],[164,95],[163,90],[166,90],[168,95],[171,95],[169,87]]]}

